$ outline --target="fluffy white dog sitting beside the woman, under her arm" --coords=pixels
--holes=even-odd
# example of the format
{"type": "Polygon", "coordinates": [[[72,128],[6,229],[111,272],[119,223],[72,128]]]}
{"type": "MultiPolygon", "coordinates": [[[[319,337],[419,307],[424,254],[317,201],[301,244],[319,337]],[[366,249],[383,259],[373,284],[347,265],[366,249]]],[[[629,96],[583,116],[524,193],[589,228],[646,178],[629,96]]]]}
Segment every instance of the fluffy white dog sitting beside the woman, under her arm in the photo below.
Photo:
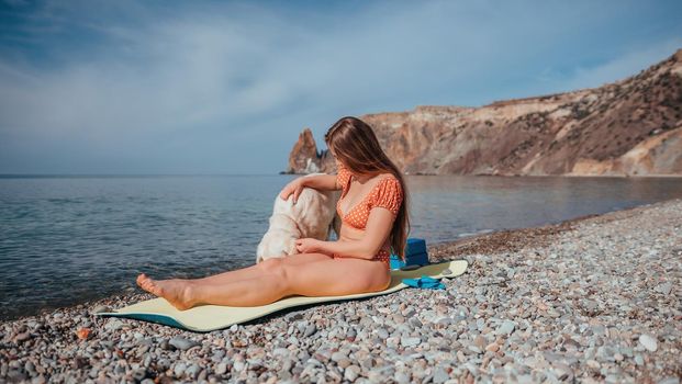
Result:
{"type": "MultiPolygon", "coordinates": [[[[323,173],[311,173],[323,174],[323,173]]],[[[338,236],[340,221],[336,215],[336,202],[340,191],[318,191],[304,188],[293,204],[293,194],[287,200],[277,195],[270,227],[256,250],[256,262],[271,258],[284,258],[298,253],[295,240],[312,237],[326,240],[334,229],[338,236]]]]}

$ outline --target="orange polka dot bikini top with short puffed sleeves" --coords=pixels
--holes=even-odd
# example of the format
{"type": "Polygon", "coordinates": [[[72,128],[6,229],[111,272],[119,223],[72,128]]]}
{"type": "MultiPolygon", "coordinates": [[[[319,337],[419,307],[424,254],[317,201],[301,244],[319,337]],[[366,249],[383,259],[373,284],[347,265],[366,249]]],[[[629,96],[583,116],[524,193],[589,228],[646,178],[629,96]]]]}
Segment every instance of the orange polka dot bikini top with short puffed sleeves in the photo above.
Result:
{"type": "Polygon", "coordinates": [[[346,167],[339,167],[336,180],[342,185],[342,195],[336,203],[336,212],[342,218],[343,223],[346,223],[357,229],[365,229],[367,219],[369,218],[369,212],[376,207],[381,206],[391,211],[394,215],[398,215],[400,204],[403,202],[403,190],[400,185],[400,181],[395,177],[385,177],[372,188],[372,190],[362,199],[362,201],[348,211],[345,215],[340,210],[340,201],[344,199],[348,189],[350,189],[350,171],[346,167]]]}

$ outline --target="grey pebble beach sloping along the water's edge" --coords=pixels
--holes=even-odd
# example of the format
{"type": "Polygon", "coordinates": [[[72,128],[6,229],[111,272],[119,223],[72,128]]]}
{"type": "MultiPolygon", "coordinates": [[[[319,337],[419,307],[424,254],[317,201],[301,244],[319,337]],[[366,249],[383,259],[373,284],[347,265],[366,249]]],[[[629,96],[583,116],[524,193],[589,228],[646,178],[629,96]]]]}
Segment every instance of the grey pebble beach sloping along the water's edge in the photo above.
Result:
{"type": "Polygon", "coordinates": [[[93,315],[142,291],[5,321],[0,383],[680,382],[682,200],[428,252],[469,269],[206,334],[93,315]]]}

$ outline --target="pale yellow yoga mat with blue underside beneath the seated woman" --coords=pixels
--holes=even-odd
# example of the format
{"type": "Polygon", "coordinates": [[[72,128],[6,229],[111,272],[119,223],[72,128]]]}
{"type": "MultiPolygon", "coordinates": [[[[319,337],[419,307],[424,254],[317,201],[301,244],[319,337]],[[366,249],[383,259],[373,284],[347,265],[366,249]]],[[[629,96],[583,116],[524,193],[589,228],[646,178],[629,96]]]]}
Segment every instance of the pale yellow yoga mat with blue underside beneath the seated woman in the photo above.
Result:
{"type": "Polygon", "coordinates": [[[211,330],[230,327],[233,324],[241,324],[253,320],[278,310],[300,305],[385,295],[400,291],[404,287],[409,287],[407,284],[402,282],[403,279],[418,279],[422,275],[427,275],[434,279],[455,278],[465,273],[468,264],[466,260],[454,260],[418,268],[416,267],[417,266],[406,266],[400,270],[392,270],[391,284],[388,289],[379,292],[356,293],[343,296],[311,297],[295,295],[288,296],[275,303],[261,306],[232,307],[224,305],[200,305],[187,310],[178,310],[165,298],[157,297],[128,305],[120,309],[114,309],[113,312],[102,312],[96,315],[126,317],[164,324],[186,330],[208,332],[211,330]]]}

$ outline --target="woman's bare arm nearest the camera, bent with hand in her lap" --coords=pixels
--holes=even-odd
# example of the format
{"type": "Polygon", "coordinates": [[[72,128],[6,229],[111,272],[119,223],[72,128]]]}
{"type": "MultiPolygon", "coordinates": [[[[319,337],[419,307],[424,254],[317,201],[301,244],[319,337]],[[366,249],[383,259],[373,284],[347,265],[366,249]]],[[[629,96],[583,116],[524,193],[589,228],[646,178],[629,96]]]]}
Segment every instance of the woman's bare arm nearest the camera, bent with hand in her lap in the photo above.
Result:
{"type": "Polygon", "coordinates": [[[394,219],[395,216],[391,211],[378,206],[370,211],[367,225],[365,226],[365,236],[361,239],[322,241],[304,238],[297,240],[297,249],[301,253],[334,253],[339,257],[370,260],[379,252],[390,235],[394,219]]]}

